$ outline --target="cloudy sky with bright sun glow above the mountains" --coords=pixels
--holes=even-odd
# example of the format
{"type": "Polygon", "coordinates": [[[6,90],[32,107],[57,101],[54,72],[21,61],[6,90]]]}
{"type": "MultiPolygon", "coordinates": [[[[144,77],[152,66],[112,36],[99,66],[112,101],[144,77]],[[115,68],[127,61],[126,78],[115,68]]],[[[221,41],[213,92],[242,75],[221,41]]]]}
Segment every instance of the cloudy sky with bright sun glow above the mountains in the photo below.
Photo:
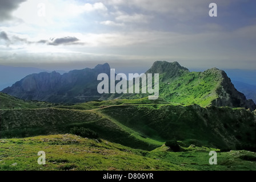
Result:
{"type": "Polygon", "coordinates": [[[0,65],[256,69],[255,33],[255,0],[0,1],[0,65]]]}

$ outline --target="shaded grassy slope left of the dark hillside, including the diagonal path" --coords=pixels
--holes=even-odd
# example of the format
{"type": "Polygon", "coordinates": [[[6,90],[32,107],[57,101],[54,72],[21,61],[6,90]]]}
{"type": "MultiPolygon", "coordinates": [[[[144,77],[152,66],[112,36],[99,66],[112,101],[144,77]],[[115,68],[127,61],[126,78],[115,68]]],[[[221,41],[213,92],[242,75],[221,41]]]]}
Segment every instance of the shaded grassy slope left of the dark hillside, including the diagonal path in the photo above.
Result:
{"type": "Polygon", "coordinates": [[[44,134],[69,133],[72,127],[85,127],[99,137],[133,148],[153,150],[163,143],[142,137],[97,110],[17,109],[0,110],[1,138],[30,137],[44,134]]]}

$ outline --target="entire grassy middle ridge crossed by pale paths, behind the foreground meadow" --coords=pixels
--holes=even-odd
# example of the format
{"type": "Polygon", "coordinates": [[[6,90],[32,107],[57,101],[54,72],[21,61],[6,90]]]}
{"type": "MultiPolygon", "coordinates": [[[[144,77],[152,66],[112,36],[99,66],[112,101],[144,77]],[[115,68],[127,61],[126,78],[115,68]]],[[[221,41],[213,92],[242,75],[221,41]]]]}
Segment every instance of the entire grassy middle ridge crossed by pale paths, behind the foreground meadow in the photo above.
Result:
{"type": "Polygon", "coordinates": [[[78,126],[89,128],[111,142],[144,150],[152,150],[170,139],[197,140],[222,149],[255,149],[256,119],[248,110],[157,101],[143,104],[145,98],[131,101],[59,106],[65,109],[0,110],[1,137],[63,134],[78,126]],[[104,108],[100,109],[101,106],[104,108]]]}

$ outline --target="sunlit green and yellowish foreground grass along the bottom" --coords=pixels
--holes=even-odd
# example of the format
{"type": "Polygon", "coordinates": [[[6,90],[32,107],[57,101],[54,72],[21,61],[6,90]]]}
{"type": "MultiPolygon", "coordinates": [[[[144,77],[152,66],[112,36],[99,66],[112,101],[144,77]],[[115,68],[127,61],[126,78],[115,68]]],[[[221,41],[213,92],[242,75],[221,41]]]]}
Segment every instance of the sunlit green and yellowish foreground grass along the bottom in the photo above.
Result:
{"type": "Polygon", "coordinates": [[[165,146],[143,151],[76,135],[48,135],[0,140],[0,170],[255,170],[255,152],[218,152],[218,164],[209,164],[214,148],[165,146]],[[46,165],[37,163],[46,152],[46,165]]]}

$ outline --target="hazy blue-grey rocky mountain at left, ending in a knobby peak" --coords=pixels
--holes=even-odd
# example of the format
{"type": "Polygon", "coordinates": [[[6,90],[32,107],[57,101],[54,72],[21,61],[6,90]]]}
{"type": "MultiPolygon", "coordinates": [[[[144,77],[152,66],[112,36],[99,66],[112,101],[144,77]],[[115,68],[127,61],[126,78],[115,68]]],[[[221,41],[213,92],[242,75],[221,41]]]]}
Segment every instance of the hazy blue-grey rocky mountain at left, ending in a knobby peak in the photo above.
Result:
{"type": "Polygon", "coordinates": [[[94,69],[74,70],[63,75],[57,72],[32,74],[2,92],[24,100],[56,103],[98,100],[101,98],[97,92],[99,73],[109,75],[109,64],[97,65],[94,69]]]}

